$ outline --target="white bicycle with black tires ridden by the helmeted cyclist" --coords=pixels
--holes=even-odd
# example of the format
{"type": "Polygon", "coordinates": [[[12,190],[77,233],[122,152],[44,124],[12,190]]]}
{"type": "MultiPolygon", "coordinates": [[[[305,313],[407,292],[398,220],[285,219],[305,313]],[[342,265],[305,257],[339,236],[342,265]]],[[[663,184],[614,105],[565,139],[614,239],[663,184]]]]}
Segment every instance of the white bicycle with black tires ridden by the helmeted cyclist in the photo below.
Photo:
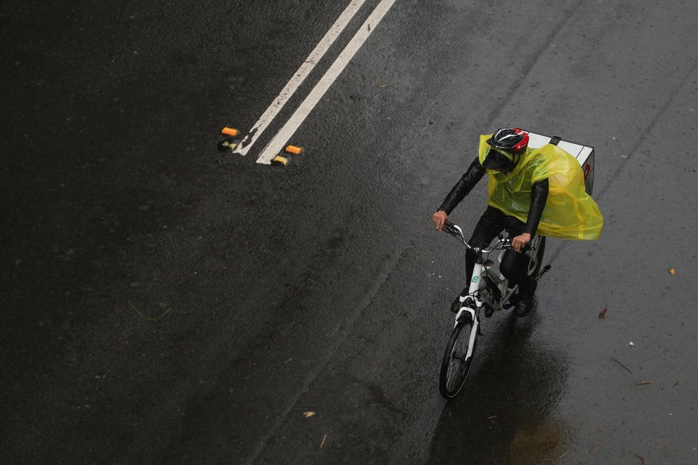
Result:
{"type": "MultiPolygon", "coordinates": [[[[490,247],[474,247],[470,245],[458,225],[447,221],[443,230],[460,240],[465,247],[475,252],[475,267],[467,295],[460,297],[460,310],[455,315],[455,327],[446,344],[441,361],[439,374],[439,389],[441,395],[453,399],[465,384],[472,365],[477,346],[477,336],[480,332],[480,310],[484,309],[485,317],[490,318],[495,312],[509,309],[516,304],[517,285],[510,282],[499,270],[494,270],[495,262],[489,259],[491,252],[512,248],[511,238],[500,234],[495,245],[490,247]]],[[[534,235],[527,245],[525,252],[529,257],[527,273],[536,279],[550,270],[546,265],[541,271],[543,254],[545,253],[545,236],[534,235]]],[[[502,260],[502,254],[499,255],[502,260]]],[[[518,315],[517,317],[523,316],[518,315]]]]}

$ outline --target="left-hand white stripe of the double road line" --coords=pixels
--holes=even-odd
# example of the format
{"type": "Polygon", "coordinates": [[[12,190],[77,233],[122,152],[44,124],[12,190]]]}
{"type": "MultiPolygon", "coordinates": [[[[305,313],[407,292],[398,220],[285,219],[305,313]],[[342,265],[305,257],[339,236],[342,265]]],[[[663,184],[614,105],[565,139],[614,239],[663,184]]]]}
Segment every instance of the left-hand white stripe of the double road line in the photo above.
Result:
{"type": "Polygon", "coordinates": [[[247,155],[248,151],[255,143],[255,140],[261,136],[267,126],[269,126],[269,124],[274,120],[278,112],[281,111],[281,108],[283,108],[286,102],[288,102],[288,99],[293,96],[296,89],[298,89],[300,84],[305,81],[305,78],[308,77],[310,71],[313,71],[315,65],[318,64],[318,61],[320,61],[320,58],[323,58],[323,55],[325,55],[325,52],[328,51],[328,48],[334,44],[335,40],[337,40],[340,34],[342,34],[342,31],[344,31],[344,29],[347,27],[347,24],[349,24],[349,21],[351,21],[356,12],[359,11],[361,6],[363,6],[365,3],[366,0],[353,0],[349,6],[346,7],[342,14],[339,15],[337,21],[335,21],[335,24],[330,27],[327,34],[325,34],[323,39],[318,43],[317,46],[315,46],[313,51],[310,52],[308,58],[305,58],[305,61],[302,65],[300,65],[298,71],[295,71],[293,77],[290,78],[290,81],[286,83],[285,87],[274,99],[273,103],[255,123],[255,126],[253,126],[247,136],[243,138],[242,143],[238,145],[236,150],[233,150],[233,153],[247,155]]]}

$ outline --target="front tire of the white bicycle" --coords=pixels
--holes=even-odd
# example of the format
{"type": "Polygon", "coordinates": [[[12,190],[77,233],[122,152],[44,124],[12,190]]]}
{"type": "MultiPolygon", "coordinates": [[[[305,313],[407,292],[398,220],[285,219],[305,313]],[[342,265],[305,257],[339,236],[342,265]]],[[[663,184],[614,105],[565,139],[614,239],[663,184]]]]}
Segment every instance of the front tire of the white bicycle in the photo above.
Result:
{"type": "Polygon", "coordinates": [[[465,384],[467,374],[470,372],[472,359],[475,357],[475,349],[477,349],[476,334],[472,354],[470,354],[470,358],[465,359],[472,331],[471,319],[468,319],[467,322],[458,322],[451,332],[451,337],[448,339],[446,350],[441,360],[439,374],[439,390],[444,399],[451,400],[458,395],[465,384]]]}

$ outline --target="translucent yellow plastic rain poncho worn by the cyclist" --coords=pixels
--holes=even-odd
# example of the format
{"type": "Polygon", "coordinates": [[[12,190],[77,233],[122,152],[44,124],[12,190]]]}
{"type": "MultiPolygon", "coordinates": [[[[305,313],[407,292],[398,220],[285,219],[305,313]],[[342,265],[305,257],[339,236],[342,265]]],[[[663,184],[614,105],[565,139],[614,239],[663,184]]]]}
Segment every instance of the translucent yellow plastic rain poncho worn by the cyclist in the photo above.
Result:
{"type": "MultiPolygon", "coordinates": [[[[480,163],[490,150],[496,150],[485,142],[491,136],[480,136],[480,163]]],[[[598,239],[604,218],[585,191],[580,163],[552,144],[528,148],[519,156],[511,172],[487,170],[490,176],[487,203],[525,223],[531,205],[531,185],[547,178],[548,197],[537,234],[571,240],[598,239]]]]}

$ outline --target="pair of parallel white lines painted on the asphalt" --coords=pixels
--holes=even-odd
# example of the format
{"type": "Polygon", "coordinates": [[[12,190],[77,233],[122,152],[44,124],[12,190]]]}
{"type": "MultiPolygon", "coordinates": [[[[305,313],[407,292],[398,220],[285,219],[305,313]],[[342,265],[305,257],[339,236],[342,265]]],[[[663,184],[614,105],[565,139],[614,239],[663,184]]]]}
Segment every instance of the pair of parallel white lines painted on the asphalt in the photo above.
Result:
{"type": "MultiPolygon", "coordinates": [[[[303,103],[300,104],[298,109],[293,113],[293,116],[289,118],[286,124],[281,128],[281,130],[276,134],[276,136],[268,143],[266,148],[262,151],[259,158],[257,158],[257,163],[263,163],[269,165],[271,160],[274,159],[276,155],[283,149],[285,143],[293,136],[293,133],[298,129],[298,127],[303,123],[305,118],[313,111],[315,105],[318,104],[320,98],[323,98],[325,92],[328,91],[335,79],[340,75],[340,73],[347,66],[351,58],[355,55],[363,43],[368,39],[368,36],[375,30],[378,23],[383,19],[390,7],[393,6],[396,0],[381,0],[380,4],[375,7],[375,10],[368,16],[368,19],[361,26],[359,31],[353,36],[349,44],[344,48],[342,53],[337,57],[332,66],[328,69],[320,81],[315,85],[310,94],[305,98],[303,103]]],[[[239,153],[241,155],[247,155],[248,151],[255,143],[255,141],[261,136],[264,130],[273,121],[275,116],[281,111],[281,108],[286,102],[293,96],[293,93],[298,89],[301,83],[308,77],[310,71],[313,71],[315,65],[320,61],[320,58],[325,55],[328,48],[335,42],[335,40],[340,36],[342,31],[349,24],[349,21],[354,17],[356,12],[365,4],[366,0],[353,0],[349,6],[340,14],[335,24],[330,27],[330,30],[325,34],[320,43],[315,46],[315,49],[310,53],[305,62],[298,68],[290,78],[290,81],[286,83],[283,90],[274,99],[273,103],[267,108],[263,113],[261,118],[255,123],[255,126],[250,130],[247,136],[243,138],[242,143],[238,146],[234,153],[239,153]]]]}

